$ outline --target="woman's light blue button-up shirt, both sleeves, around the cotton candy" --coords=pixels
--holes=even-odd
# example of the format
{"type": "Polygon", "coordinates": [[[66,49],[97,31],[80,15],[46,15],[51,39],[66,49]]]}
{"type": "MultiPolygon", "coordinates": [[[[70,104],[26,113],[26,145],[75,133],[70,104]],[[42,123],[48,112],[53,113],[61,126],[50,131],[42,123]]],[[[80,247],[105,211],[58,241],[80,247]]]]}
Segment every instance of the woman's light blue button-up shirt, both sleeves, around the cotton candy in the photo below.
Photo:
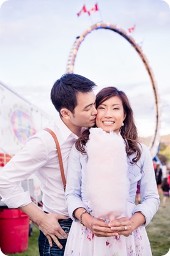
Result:
{"type": "MultiPolygon", "coordinates": [[[[141,158],[135,165],[130,164],[133,157],[135,157],[134,154],[130,157],[127,157],[127,175],[130,181],[128,201],[134,205],[131,214],[141,212],[146,218],[146,223],[144,224],[146,226],[149,224],[155,213],[157,213],[158,206],[160,204],[160,198],[158,195],[157,183],[155,181],[155,172],[153,169],[153,162],[149,148],[147,148],[146,145],[142,145],[141,158]],[[141,185],[141,204],[135,205],[138,181],[141,185]]],[[[75,221],[77,221],[73,215],[75,209],[81,207],[88,209],[87,205],[83,203],[83,201],[87,200],[85,186],[86,164],[87,155],[83,155],[78,152],[74,145],[68,158],[65,198],[68,205],[68,214],[75,221]]]]}

